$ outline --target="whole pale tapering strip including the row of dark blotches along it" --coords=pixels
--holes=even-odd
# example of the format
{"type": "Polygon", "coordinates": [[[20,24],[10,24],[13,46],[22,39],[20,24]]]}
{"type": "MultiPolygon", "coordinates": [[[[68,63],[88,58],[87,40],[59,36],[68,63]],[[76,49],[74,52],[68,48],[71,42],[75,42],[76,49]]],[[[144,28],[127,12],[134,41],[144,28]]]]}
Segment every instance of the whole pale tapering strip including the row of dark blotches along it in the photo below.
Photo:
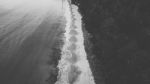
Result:
{"type": "Polygon", "coordinates": [[[82,16],[78,7],[71,4],[70,0],[64,0],[63,8],[66,20],[65,38],[55,84],[95,84],[84,47],[82,16]]]}

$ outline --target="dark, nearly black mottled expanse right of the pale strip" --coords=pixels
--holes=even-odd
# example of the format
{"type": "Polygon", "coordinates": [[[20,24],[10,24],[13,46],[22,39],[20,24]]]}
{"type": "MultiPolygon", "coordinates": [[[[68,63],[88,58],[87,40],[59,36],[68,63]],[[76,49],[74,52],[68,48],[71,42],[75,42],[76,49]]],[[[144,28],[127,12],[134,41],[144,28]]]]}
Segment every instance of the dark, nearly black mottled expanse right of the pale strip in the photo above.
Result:
{"type": "Polygon", "coordinates": [[[73,0],[91,34],[96,84],[150,84],[149,0],[73,0]]]}

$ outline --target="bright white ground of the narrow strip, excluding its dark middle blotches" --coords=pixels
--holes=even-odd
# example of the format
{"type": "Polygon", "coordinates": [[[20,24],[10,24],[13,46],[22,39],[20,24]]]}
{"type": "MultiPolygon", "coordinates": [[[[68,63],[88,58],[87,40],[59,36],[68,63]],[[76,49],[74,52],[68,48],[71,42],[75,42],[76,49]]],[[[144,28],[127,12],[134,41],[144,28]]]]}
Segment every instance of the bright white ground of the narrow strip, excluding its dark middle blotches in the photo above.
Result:
{"type": "Polygon", "coordinates": [[[78,7],[75,5],[71,5],[67,0],[64,3],[64,17],[66,18],[66,27],[65,27],[65,38],[64,38],[64,45],[62,48],[62,56],[61,60],[59,61],[59,77],[56,84],[69,84],[69,70],[72,65],[78,67],[81,71],[81,75],[77,78],[78,80],[74,84],[95,84],[94,77],[92,75],[88,60],[87,54],[85,52],[84,47],[84,36],[82,31],[82,16],[78,12],[78,7]],[[74,28],[76,27],[76,28],[74,28]],[[75,50],[76,55],[78,55],[79,60],[77,63],[73,64],[70,61],[66,60],[67,58],[71,57],[71,53],[68,50],[68,47],[71,43],[69,38],[71,34],[69,34],[71,29],[76,29],[78,32],[76,36],[77,41],[75,44],[77,45],[77,49],[75,50]]]}

